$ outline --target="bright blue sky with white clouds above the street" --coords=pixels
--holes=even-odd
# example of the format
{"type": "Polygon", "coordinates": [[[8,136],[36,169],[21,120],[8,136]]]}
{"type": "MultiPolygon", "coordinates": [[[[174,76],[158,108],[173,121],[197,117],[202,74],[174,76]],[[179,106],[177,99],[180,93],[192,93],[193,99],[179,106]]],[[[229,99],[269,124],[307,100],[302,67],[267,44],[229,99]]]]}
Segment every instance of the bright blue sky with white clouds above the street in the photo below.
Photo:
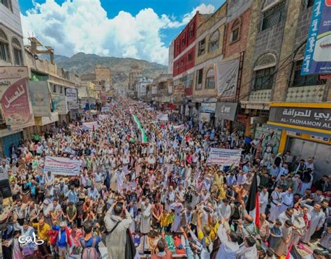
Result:
{"type": "Polygon", "coordinates": [[[171,41],[196,10],[225,0],[19,0],[25,43],[34,36],[55,54],[139,58],[168,65],[171,41]]]}

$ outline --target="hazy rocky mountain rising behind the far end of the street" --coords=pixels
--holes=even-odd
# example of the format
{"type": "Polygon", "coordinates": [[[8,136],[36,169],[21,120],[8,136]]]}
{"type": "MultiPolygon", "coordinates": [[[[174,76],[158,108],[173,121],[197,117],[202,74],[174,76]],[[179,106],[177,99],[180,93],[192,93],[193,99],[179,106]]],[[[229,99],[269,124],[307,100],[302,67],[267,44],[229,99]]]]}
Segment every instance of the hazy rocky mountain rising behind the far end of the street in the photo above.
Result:
{"type": "Polygon", "coordinates": [[[71,56],[54,55],[54,62],[60,68],[74,72],[75,74],[84,74],[94,72],[94,67],[101,64],[112,70],[112,85],[117,87],[128,86],[128,73],[131,66],[138,65],[142,68],[142,77],[155,78],[159,74],[167,73],[168,67],[158,63],[135,58],[115,58],[113,56],[98,56],[96,54],[85,54],[78,52],[71,56]]]}

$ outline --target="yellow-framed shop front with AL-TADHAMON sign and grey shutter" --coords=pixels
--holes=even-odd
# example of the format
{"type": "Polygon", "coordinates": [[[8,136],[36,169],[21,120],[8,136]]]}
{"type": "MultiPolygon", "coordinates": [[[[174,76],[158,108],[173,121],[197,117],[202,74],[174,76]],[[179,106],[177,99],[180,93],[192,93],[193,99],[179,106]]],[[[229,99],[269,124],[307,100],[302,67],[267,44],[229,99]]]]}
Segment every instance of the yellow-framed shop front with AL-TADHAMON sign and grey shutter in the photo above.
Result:
{"type": "Polygon", "coordinates": [[[320,178],[331,162],[331,103],[270,104],[268,127],[281,130],[279,152],[291,152],[295,160],[314,159],[320,178]]]}

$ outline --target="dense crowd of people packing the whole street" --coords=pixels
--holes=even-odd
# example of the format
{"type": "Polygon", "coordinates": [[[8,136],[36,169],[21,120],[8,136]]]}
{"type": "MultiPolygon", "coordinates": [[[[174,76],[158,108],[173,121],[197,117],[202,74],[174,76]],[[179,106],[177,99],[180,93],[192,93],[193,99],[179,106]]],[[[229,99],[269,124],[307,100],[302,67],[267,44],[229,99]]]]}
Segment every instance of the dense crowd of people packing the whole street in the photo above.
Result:
{"type": "Polygon", "coordinates": [[[302,247],[330,258],[329,168],[318,179],[311,157],[295,161],[235,129],[165,112],[169,121],[158,121],[161,111],[119,98],[102,119],[83,116],[13,145],[0,166],[12,192],[3,258],[101,258],[102,243],[122,259],[131,242],[131,258],[281,258],[302,247]],[[98,126],[82,127],[91,121],[98,126]],[[210,148],[241,149],[240,166],[209,164],[210,148]],[[45,171],[47,156],[80,161],[80,173],[45,171]],[[258,225],[246,210],[254,175],[258,225]]]}

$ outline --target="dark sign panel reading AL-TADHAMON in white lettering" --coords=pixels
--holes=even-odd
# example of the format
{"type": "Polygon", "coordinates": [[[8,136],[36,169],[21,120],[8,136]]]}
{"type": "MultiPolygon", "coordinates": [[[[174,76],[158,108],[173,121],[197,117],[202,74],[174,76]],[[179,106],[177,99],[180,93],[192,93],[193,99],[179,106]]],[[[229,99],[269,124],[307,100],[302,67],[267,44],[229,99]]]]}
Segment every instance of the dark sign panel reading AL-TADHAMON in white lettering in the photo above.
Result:
{"type": "Polygon", "coordinates": [[[331,109],[271,107],[269,121],[319,130],[331,130],[331,109]]]}

